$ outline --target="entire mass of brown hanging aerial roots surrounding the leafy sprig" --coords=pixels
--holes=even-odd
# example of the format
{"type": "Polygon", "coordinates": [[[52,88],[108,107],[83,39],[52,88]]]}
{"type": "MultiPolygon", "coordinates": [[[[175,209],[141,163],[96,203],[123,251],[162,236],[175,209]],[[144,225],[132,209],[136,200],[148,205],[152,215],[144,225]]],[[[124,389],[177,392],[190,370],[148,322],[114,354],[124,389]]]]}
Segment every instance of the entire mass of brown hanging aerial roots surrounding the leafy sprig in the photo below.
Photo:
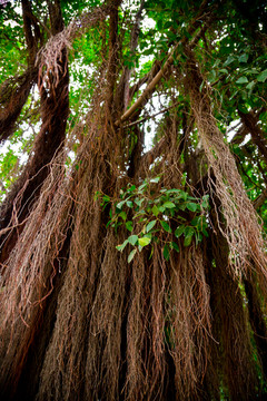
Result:
{"type": "MultiPolygon", "coordinates": [[[[44,166],[39,160],[39,167],[46,168],[39,195],[29,214],[12,222],[20,226],[19,241],[4,260],[0,277],[1,395],[4,401],[219,401],[221,394],[233,401],[260,399],[266,354],[264,342],[255,339],[266,335],[267,281],[257,216],[211,114],[209,89],[199,89],[202,77],[188,49],[184,89],[190,99],[179,105],[186,116],[175,106],[168,109],[154,150],[144,155],[137,124],[116,124],[123,107],[118,111],[113,104],[125,97],[121,88],[120,96],[116,94],[118,6],[119,1],[108,2],[82,22],[86,29],[87,23],[109,14],[109,27],[116,32],[110,35],[109,58],[95,76],[90,109],[73,129],[82,137],[76,160],[66,167],[63,145],[53,148],[44,166]],[[201,158],[192,144],[192,116],[201,158]],[[205,160],[198,174],[188,167],[195,156],[192,166],[205,160]],[[174,215],[161,217],[146,209],[148,219],[152,216],[162,223],[168,218],[169,228],[157,231],[147,246],[138,248],[135,243],[137,252],[128,263],[132,245],[128,243],[122,252],[116,246],[130,234],[123,224],[116,229],[108,224],[110,209],[116,209],[128,184],[137,189],[144,177],[159,174],[160,180],[148,185],[145,202],[161,196],[162,188],[185,190],[188,197],[181,204],[186,206],[179,204],[175,213],[179,222],[195,227],[198,212],[187,209],[187,199],[196,200],[190,198],[196,193],[198,198],[200,192],[209,194],[210,208],[199,207],[207,219],[208,233],[201,232],[207,237],[197,244],[191,236],[187,243],[184,234],[175,234],[180,223],[174,215]],[[109,196],[110,204],[103,207],[96,193],[109,196]],[[164,245],[174,246],[174,242],[179,252],[170,246],[166,257],[164,245]]],[[[48,111],[50,117],[43,121],[42,138],[37,139],[38,154],[42,146],[59,140],[44,140],[44,134],[57,127],[57,90],[56,100],[66,118],[68,114],[66,46],[78,35],[78,27],[66,32],[66,38],[57,36],[40,55],[55,76],[47,82],[51,97],[46,97],[40,85],[43,115],[48,111]],[[62,47],[60,65],[57,51],[62,47]]],[[[48,78],[46,71],[42,78],[48,78]]],[[[181,85],[176,88],[179,99],[181,85]]],[[[172,101],[178,106],[177,99],[172,101]]],[[[61,124],[63,140],[66,120],[61,124]]],[[[24,194],[23,187],[17,202],[24,194]]],[[[145,233],[148,221],[134,218],[134,207],[127,213],[132,216],[131,234],[145,233]]]]}

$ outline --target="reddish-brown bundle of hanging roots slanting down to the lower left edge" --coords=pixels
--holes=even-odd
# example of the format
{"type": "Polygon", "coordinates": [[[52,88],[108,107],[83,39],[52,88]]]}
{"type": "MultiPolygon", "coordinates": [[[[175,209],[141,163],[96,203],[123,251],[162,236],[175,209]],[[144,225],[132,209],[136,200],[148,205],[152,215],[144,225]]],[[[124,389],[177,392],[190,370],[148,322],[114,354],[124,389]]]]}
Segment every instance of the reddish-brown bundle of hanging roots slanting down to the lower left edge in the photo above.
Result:
{"type": "Polygon", "coordinates": [[[66,193],[63,168],[55,163],[39,203],[11,253],[1,277],[1,389],[16,389],[43,301],[60,270],[60,251],[70,224],[72,199],[66,193]],[[66,216],[63,219],[62,216],[66,216]]]}

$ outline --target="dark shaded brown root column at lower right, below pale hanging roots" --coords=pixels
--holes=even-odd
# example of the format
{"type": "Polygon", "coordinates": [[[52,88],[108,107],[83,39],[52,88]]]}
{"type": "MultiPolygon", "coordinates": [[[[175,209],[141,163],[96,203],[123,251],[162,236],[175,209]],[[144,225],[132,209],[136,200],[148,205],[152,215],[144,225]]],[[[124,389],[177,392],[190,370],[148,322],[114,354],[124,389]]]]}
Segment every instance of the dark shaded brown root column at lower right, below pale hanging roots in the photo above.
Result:
{"type": "MultiPolygon", "coordinates": [[[[217,225],[216,217],[212,223],[217,225]]],[[[214,319],[215,322],[219,320],[218,326],[214,327],[214,335],[218,341],[224,385],[230,399],[248,401],[257,398],[258,392],[250,333],[238,281],[228,267],[227,241],[218,226],[216,231],[211,245],[215,266],[210,265],[209,272],[214,319]]]]}

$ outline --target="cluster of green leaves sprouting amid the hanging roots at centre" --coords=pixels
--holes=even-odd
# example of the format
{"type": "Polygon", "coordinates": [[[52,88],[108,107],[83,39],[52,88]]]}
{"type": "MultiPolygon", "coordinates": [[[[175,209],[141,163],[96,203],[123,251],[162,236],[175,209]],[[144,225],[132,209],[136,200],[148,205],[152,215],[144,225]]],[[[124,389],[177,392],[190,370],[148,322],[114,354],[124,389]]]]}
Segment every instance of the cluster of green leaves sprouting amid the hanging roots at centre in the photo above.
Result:
{"type": "Polygon", "coordinates": [[[107,226],[116,232],[125,226],[131,233],[117,246],[120,252],[128,244],[134,246],[128,262],[148,245],[152,254],[154,244],[160,245],[168,261],[172,250],[179,252],[178,238],[182,237],[184,246],[189,246],[192,241],[198,245],[202,236],[208,236],[208,195],[197,198],[182,189],[167,189],[161,187],[159,176],[145,179],[138,187],[129,184],[120,190],[119,200],[99,192],[95,199],[101,199],[102,208],[110,207],[107,226]]]}

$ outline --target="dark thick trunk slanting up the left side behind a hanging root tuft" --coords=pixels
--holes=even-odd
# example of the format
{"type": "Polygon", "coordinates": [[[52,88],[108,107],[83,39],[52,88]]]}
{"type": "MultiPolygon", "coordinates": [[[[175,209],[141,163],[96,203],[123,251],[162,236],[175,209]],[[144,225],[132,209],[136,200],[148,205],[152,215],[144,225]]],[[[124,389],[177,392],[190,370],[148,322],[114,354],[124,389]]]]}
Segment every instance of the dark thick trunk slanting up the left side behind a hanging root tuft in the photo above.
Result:
{"type": "MultiPolygon", "coordinates": [[[[56,35],[63,29],[59,3],[53,3],[49,10],[52,32],[56,35]]],[[[69,114],[69,72],[66,49],[62,50],[58,62],[61,67],[58,82],[55,82],[51,77],[48,89],[42,82],[42,77],[39,77],[42,126],[34,139],[28,164],[0,208],[0,229],[7,228],[1,237],[1,264],[8,258],[23,228],[23,222],[39,196],[42,183],[49,174],[50,162],[63,148],[69,114]]]]}

